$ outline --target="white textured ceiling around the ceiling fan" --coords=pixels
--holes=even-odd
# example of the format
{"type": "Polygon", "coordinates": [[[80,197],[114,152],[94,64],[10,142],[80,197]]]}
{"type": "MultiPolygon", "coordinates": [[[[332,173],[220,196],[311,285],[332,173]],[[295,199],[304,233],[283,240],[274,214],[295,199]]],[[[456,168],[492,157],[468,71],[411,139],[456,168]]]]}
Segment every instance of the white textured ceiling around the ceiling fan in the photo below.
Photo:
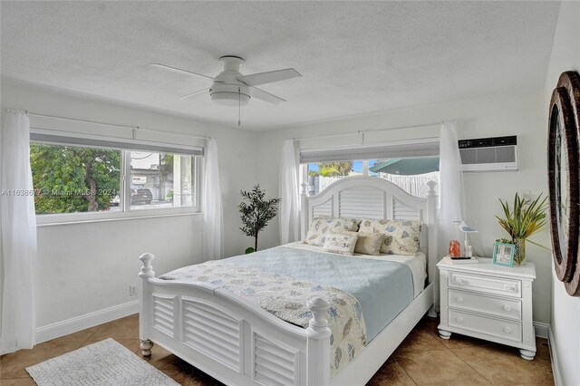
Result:
{"type": "Polygon", "coordinates": [[[541,90],[556,2],[7,2],[1,73],[8,78],[237,123],[204,78],[218,57],[243,73],[295,67],[261,86],[288,100],[252,100],[243,127],[266,130],[394,108],[541,90]]]}

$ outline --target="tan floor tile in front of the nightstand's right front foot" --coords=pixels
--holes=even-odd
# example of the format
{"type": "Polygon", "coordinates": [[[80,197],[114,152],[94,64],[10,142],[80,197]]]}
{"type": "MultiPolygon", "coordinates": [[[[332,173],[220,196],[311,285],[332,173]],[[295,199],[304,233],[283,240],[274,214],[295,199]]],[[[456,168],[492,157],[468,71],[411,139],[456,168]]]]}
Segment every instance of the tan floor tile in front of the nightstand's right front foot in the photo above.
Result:
{"type": "MultiPolygon", "coordinates": [[[[545,350],[545,349],[544,349],[545,350]]],[[[513,347],[496,345],[451,349],[464,362],[494,385],[552,384],[554,377],[549,359],[536,357],[527,361],[513,347]]],[[[544,355],[544,354],[542,354],[544,355]]]]}

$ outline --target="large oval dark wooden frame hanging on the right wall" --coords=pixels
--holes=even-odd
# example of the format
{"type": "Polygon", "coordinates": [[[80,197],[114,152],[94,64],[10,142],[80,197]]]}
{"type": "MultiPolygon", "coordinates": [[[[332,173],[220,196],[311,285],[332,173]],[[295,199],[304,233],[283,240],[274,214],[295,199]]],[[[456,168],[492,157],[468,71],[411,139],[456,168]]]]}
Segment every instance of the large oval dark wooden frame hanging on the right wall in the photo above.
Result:
{"type": "Polygon", "coordinates": [[[580,76],[564,72],[550,101],[548,188],[556,276],[568,294],[580,295],[580,76]]]}

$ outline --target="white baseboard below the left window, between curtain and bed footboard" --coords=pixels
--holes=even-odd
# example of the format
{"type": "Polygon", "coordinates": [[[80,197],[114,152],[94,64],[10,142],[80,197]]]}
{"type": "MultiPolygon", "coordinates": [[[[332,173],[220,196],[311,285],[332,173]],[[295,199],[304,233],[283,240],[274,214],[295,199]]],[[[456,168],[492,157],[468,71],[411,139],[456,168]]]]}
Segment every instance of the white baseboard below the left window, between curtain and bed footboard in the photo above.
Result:
{"type": "Polygon", "coordinates": [[[90,314],[76,316],[62,322],[52,323],[36,329],[36,343],[43,343],[54,338],[59,338],[69,333],[76,333],[85,328],[94,327],[102,323],[111,322],[115,319],[137,314],[139,312],[139,300],[125,304],[113,305],[103,310],[90,314]]]}

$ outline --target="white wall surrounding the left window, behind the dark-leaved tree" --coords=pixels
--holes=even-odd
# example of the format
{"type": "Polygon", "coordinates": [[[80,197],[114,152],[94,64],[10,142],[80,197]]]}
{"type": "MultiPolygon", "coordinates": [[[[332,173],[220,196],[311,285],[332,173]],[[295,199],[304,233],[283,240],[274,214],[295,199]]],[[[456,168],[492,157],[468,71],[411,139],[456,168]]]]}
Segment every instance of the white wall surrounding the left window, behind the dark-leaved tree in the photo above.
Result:
{"type": "MultiPolygon", "coordinates": [[[[239,190],[256,183],[256,133],[191,121],[159,112],[53,92],[20,82],[2,82],[2,110],[28,110],[103,121],[218,140],[225,217],[226,256],[252,245],[237,229],[239,190]]],[[[140,218],[82,225],[38,227],[35,279],[36,324],[47,324],[137,300],[129,285],[139,284],[138,257],[156,256],[158,274],[201,261],[203,217],[140,218]]]]}

